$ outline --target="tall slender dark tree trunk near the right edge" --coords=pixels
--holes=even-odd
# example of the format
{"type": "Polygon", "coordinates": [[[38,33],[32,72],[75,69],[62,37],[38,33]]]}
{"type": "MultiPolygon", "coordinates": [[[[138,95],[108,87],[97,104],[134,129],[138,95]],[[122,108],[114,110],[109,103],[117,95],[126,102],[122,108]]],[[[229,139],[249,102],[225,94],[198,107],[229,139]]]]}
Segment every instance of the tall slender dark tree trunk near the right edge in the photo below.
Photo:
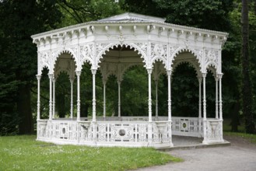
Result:
{"type": "Polygon", "coordinates": [[[250,78],[250,59],[249,59],[249,17],[248,1],[242,0],[242,66],[243,66],[243,113],[245,119],[245,130],[253,134],[255,131],[254,113],[252,111],[252,92],[250,78]]]}

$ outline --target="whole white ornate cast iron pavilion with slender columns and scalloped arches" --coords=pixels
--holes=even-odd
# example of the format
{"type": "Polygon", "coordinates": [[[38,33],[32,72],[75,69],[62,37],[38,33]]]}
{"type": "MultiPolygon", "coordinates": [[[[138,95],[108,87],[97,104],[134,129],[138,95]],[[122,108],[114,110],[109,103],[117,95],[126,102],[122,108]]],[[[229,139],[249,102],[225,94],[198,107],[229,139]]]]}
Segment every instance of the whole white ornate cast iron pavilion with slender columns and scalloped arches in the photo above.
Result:
{"type": "MultiPolygon", "coordinates": [[[[222,58],[227,33],[165,23],[165,19],[124,13],[107,19],[68,26],[33,35],[38,51],[37,140],[57,144],[92,146],[172,147],[172,135],[202,137],[203,144],[223,142],[222,58]],[[163,62],[163,65],[159,62],[163,62]],[[92,117],[80,117],[82,65],[91,65],[93,75],[92,117]],[[192,65],[198,76],[198,117],[172,117],[171,76],[182,62],[192,65]],[[124,72],[144,65],[148,72],[148,117],[122,117],[120,87],[124,72]],[[48,68],[50,82],[49,119],[40,119],[40,78],[48,68]],[[205,78],[216,79],[216,117],[207,118],[205,78]],[[55,79],[68,72],[71,83],[71,117],[55,116],[55,79]],[[103,112],[96,117],[96,72],[103,78],[103,112]],[[168,117],[158,116],[157,80],[168,80],[168,117]],[[106,82],[116,75],[118,116],[106,117],[106,82]],[[152,112],[151,82],[156,82],[156,115],[152,112]],[[73,113],[73,82],[77,81],[76,117],[73,113]],[[85,120],[86,119],[86,120],[85,120]]],[[[175,97],[173,97],[175,98],[175,97]]]]}

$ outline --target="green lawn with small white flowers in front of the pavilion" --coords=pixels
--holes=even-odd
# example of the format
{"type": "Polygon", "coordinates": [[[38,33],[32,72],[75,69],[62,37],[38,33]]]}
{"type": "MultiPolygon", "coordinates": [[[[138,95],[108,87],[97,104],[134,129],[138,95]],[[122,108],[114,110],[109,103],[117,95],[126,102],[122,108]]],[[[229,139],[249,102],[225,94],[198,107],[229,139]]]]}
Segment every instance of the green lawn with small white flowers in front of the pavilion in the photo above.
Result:
{"type": "Polygon", "coordinates": [[[0,137],[0,170],[126,170],[182,161],[153,148],[53,145],[35,139],[0,137]]]}

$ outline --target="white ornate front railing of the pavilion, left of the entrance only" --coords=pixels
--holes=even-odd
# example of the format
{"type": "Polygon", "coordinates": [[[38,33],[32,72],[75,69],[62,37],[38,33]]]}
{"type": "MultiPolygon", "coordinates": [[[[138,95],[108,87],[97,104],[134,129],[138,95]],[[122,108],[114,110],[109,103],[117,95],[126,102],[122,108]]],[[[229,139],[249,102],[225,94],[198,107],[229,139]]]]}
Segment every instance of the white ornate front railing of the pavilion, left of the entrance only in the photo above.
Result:
{"type": "Polygon", "coordinates": [[[143,145],[171,142],[168,122],[38,120],[37,139],[56,143],[143,145]],[[94,127],[94,128],[93,128],[94,127]],[[96,131],[93,136],[93,131],[96,131]]]}

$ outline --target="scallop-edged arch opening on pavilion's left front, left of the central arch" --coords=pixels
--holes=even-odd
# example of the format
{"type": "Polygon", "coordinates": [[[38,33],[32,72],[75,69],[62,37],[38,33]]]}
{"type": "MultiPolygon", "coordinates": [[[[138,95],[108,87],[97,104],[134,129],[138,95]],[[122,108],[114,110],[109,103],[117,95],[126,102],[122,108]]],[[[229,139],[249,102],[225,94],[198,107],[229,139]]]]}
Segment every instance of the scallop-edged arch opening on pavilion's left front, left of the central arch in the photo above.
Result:
{"type": "Polygon", "coordinates": [[[53,118],[75,117],[75,71],[77,61],[71,50],[59,51],[53,56],[53,118]]]}

